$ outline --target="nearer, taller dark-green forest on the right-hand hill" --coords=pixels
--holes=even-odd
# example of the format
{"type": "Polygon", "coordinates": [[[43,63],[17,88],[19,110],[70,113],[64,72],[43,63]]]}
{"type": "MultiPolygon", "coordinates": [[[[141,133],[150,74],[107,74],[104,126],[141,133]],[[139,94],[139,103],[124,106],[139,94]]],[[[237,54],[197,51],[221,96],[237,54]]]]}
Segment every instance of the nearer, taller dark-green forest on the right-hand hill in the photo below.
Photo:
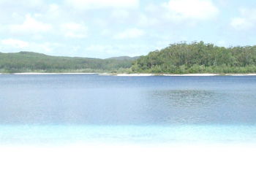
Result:
{"type": "Polygon", "coordinates": [[[256,46],[218,47],[204,42],[181,42],[141,56],[132,72],[143,73],[254,73],[256,46]]]}

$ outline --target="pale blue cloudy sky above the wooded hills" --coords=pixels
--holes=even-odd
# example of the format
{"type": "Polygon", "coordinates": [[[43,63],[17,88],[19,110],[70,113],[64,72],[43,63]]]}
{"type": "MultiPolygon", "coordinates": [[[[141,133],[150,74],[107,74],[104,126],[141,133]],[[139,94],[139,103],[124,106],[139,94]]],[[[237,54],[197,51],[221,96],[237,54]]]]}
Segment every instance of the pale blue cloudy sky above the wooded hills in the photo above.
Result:
{"type": "Polygon", "coordinates": [[[109,58],[256,45],[255,0],[0,0],[0,52],[109,58]]]}

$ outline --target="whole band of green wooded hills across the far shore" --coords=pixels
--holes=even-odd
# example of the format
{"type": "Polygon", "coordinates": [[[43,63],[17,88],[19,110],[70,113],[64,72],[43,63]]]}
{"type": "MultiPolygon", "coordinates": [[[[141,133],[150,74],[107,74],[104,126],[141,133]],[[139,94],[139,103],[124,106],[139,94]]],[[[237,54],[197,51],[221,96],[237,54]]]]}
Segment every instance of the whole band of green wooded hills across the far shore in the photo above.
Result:
{"type": "Polygon", "coordinates": [[[0,73],[15,72],[256,73],[256,46],[227,48],[180,42],[145,56],[107,59],[0,53],[0,73]]]}

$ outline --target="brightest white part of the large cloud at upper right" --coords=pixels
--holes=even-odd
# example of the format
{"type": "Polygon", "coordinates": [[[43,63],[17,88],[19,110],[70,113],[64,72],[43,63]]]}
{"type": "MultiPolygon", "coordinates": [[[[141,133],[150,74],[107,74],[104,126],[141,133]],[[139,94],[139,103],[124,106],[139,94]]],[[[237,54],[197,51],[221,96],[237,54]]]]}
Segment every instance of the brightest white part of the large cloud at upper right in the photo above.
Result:
{"type": "Polygon", "coordinates": [[[167,8],[167,16],[177,20],[208,20],[219,13],[211,0],[170,0],[164,7],[167,8]]]}

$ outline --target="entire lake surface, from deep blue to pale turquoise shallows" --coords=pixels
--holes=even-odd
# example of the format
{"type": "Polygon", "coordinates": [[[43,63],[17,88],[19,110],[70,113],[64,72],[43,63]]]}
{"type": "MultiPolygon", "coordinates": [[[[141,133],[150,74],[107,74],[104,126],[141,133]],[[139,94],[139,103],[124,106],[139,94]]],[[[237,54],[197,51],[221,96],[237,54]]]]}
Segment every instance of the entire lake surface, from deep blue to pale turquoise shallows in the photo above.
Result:
{"type": "Polygon", "coordinates": [[[256,77],[1,75],[0,139],[255,142],[256,77]]]}

